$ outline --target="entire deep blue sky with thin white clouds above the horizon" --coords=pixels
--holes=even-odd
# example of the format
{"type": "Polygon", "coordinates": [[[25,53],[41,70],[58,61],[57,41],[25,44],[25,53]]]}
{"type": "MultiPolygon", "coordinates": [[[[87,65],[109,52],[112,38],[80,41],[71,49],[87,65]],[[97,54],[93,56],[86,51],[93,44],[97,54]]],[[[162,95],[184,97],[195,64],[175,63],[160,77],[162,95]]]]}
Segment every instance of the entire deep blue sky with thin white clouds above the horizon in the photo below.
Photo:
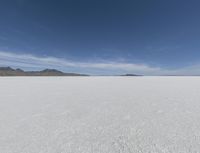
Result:
{"type": "Polygon", "coordinates": [[[1,0],[0,66],[200,74],[198,0],[1,0]]]}

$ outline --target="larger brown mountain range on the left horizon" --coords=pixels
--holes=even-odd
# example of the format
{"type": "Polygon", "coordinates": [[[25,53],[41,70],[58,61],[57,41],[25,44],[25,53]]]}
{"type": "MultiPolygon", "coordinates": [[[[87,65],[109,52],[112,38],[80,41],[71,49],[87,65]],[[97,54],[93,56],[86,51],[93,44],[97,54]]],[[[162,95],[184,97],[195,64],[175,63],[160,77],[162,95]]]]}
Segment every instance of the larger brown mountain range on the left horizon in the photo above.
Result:
{"type": "Polygon", "coordinates": [[[42,71],[24,71],[11,67],[0,67],[0,76],[88,76],[78,73],[64,73],[56,69],[45,69],[42,71]]]}

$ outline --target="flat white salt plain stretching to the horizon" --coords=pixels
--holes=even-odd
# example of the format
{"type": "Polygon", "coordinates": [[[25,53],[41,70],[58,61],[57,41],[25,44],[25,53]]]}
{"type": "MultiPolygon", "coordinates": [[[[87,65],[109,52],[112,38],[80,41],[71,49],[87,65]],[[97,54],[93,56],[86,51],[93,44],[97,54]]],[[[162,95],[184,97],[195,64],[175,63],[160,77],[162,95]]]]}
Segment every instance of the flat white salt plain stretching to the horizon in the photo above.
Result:
{"type": "Polygon", "coordinates": [[[0,153],[200,152],[200,77],[1,77],[0,153]]]}

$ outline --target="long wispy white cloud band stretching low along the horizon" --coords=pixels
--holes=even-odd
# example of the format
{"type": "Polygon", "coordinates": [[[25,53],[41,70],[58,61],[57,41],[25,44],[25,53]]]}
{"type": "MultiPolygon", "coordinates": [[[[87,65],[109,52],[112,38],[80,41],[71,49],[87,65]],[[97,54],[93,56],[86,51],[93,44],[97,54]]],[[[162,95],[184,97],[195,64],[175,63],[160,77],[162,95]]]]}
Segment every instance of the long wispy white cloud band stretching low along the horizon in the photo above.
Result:
{"type": "Polygon", "coordinates": [[[126,63],[118,61],[103,62],[78,62],[64,58],[37,57],[31,54],[15,54],[11,52],[0,52],[0,66],[12,66],[26,69],[57,68],[60,70],[89,72],[95,74],[136,73],[144,75],[198,75],[200,65],[193,65],[180,69],[168,70],[153,67],[148,64],[126,63]]]}

